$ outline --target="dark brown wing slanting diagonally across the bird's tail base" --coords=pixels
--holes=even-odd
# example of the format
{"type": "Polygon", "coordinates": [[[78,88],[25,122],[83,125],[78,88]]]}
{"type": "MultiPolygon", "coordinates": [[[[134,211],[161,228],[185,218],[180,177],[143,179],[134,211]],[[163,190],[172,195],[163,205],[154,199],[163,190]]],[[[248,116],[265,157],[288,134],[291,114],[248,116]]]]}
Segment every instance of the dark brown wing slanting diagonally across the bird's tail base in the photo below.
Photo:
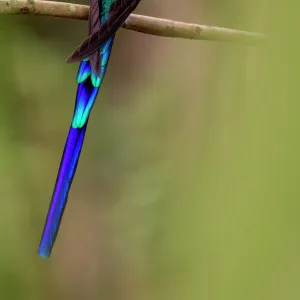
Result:
{"type": "Polygon", "coordinates": [[[78,46],[67,62],[81,61],[90,57],[121,27],[141,0],[116,0],[110,8],[108,19],[78,46]]]}

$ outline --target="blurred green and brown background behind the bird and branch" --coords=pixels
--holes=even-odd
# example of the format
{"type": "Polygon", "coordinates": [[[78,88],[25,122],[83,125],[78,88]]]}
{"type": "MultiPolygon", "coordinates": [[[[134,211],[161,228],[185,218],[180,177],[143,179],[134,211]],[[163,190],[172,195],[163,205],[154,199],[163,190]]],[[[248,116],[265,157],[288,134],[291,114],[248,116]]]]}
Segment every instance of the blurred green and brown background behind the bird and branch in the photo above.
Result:
{"type": "MultiPolygon", "coordinates": [[[[87,4],[87,2],[85,2],[87,4]]],[[[121,29],[37,256],[87,22],[0,16],[0,299],[300,299],[299,1],[142,1],[261,47],[121,29]]]]}

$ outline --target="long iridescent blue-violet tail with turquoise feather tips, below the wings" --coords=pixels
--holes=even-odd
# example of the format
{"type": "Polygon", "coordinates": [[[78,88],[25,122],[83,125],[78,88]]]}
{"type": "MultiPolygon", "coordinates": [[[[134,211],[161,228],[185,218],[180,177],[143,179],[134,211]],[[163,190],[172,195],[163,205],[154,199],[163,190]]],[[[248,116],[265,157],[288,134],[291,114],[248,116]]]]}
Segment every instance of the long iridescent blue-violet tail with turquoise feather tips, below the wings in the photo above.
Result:
{"type": "Polygon", "coordinates": [[[98,76],[91,69],[89,59],[80,63],[77,74],[77,96],[72,124],[62,155],[52,200],[50,203],[38,254],[49,257],[54,245],[60,222],[67,204],[69,190],[76,172],[84,141],[89,115],[105,75],[114,37],[100,50],[101,72],[98,76]]]}

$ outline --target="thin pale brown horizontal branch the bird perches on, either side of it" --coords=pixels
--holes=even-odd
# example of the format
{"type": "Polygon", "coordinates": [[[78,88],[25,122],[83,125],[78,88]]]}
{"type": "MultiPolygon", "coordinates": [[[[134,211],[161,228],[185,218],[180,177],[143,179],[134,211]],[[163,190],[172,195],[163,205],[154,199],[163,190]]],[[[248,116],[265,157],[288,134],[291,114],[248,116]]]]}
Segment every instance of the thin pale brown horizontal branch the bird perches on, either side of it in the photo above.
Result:
{"type": "MultiPolygon", "coordinates": [[[[0,0],[0,14],[28,14],[68,19],[87,20],[86,5],[34,0],[0,0]]],[[[259,33],[222,27],[190,24],[168,19],[131,14],[123,27],[142,33],[193,40],[235,42],[255,45],[266,37],[259,33]]]]}

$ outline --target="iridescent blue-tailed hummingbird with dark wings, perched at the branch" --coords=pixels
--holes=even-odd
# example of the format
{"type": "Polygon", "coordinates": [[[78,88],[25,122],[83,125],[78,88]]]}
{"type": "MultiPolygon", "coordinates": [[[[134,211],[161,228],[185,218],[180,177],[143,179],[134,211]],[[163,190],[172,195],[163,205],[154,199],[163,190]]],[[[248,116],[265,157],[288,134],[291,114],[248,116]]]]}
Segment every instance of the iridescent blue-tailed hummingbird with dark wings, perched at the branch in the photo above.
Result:
{"type": "Polygon", "coordinates": [[[57,237],[90,113],[109,62],[115,34],[140,0],[90,0],[88,38],[67,62],[80,61],[73,118],[61,158],[38,255],[47,258],[57,237]]]}

